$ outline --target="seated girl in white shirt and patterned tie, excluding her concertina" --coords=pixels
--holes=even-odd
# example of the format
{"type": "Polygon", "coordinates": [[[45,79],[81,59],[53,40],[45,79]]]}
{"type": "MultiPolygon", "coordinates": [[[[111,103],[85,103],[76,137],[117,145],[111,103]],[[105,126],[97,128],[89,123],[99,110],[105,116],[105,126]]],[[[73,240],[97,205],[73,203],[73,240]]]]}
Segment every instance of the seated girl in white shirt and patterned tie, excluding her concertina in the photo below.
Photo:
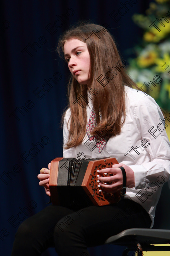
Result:
{"type": "MultiPolygon", "coordinates": [[[[126,195],[100,207],[46,207],[19,226],[12,256],[38,256],[48,247],[60,256],[89,255],[87,247],[104,244],[125,229],[152,227],[161,187],[169,178],[164,117],[153,98],[132,88],[109,31],[88,23],[72,28],[60,38],[60,50],[72,74],[63,114],[63,157],[116,158],[119,164],[100,170],[98,186],[115,193],[126,174],[126,195]],[[100,177],[104,172],[113,176],[100,177]]],[[[50,196],[49,172],[50,163],[38,178],[50,196]]]]}

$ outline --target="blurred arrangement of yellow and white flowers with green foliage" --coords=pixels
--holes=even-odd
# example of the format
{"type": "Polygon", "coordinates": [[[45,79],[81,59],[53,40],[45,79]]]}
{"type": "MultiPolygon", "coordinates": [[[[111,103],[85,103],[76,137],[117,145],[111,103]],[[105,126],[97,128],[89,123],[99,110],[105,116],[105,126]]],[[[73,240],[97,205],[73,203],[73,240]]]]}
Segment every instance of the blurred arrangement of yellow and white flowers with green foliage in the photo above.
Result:
{"type": "Polygon", "coordinates": [[[127,71],[138,87],[141,87],[144,82],[147,84],[149,81],[154,82],[154,76],[159,75],[162,82],[155,84],[156,87],[151,86],[153,91],[147,89],[146,86],[143,89],[155,99],[161,108],[169,112],[170,73],[167,73],[170,66],[167,68],[167,73],[161,68],[165,62],[164,69],[168,64],[170,65],[170,17],[167,18],[166,14],[170,16],[170,0],[155,0],[150,3],[146,15],[134,14],[132,16],[134,23],[143,29],[143,40],[135,47],[136,58],[129,59],[130,66],[127,71]],[[168,22],[161,20],[162,17],[165,17],[168,22]],[[161,20],[164,26],[156,18],[161,20]],[[151,24],[154,25],[151,26],[151,24]]]}

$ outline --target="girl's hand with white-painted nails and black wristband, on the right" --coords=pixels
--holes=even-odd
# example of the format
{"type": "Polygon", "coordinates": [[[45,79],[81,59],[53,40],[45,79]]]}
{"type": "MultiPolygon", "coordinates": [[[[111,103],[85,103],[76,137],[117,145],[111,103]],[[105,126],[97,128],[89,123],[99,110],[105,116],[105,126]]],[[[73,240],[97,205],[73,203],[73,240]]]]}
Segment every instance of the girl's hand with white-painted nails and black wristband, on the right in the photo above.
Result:
{"type": "Polygon", "coordinates": [[[123,187],[123,174],[120,168],[120,166],[123,166],[126,172],[126,187],[132,188],[134,187],[134,172],[133,170],[124,164],[115,164],[112,165],[111,168],[105,168],[101,169],[98,172],[98,175],[100,176],[100,173],[112,173],[113,176],[107,176],[107,177],[98,177],[98,180],[100,181],[98,185],[100,185],[100,189],[102,191],[106,191],[108,193],[116,193],[123,187]],[[112,182],[112,184],[104,184],[107,182],[112,182]]]}

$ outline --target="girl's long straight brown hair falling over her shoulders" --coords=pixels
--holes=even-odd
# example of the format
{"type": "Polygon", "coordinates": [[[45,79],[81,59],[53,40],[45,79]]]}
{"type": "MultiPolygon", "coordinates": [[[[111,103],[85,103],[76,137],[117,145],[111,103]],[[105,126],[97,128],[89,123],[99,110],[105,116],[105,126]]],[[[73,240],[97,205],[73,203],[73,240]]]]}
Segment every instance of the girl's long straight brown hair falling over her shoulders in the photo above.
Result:
{"type": "MultiPolygon", "coordinates": [[[[97,126],[91,134],[96,135],[96,131],[105,131],[105,126],[107,124],[111,124],[113,126],[113,130],[107,133],[109,137],[120,134],[121,126],[125,121],[124,85],[135,88],[137,87],[133,80],[131,80],[131,78],[125,73],[125,69],[122,68],[124,66],[122,63],[124,62],[118,53],[114,38],[109,31],[106,32],[106,30],[103,30],[100,25],[90,23],[80,24],[77,27],[72,27],[67,30],[60,37],[58,47],[56,49],[59,55],[61,50],[64,52],[63,46],[65,42],[72,38],[79,39],[87,44],[87,49],[90,54],[89,84],[91,88],[95,88],[98,91],[96,96],[93,97],[90,95],[90,97],[92,97],[92,103],[97,118],[97,126]],[[101,32],[97,32],[97,30],[100,30],[101,32]],[[92,31],[97,32],[100,38],[92,31]],[[93,38],[96,43],[94,43],[90,38],[86,40],[91,33],[93,33],[91,38],[93,38]],[[113,68],[113,73],[115,73],[113,79],[111,79],[111,76],[113,75],[112,72],[110,72],[108,76],[106,73],[110,71],[108,67],[112,69],[113,66],[116,66],[117,68],[113,68]],[[102,84],[97,81],[97,78],[100,75],[103,75],[100,80],[105,76],[107,77],[103,81],[103,84],[106,84],[106,81],[109,81],[106,86],[102,86],[102,84]],[[101,111],[101,120],[99,116],[99,109],[101,111]]],[[[71,76],[68,86],[68,108],[70,108],[71,116],[69,119],[69,140],[66,144],[66,149],[80,145],[86,134],[86,125],[88,122],[86,113],[87,103],[80,97],[80,94],[83,96],[87,94],[87,85],[79,84],[77,80],[71,76]],[[80,97],[79,102],[84,106],[84,108],[78,103],[73,104],[78,97],[80,97]]],[[[87,100],[89,101],[89,98],[87,98],[87,100]]],[[[62,124],[66,111],[62,116],[62,124]]]]}

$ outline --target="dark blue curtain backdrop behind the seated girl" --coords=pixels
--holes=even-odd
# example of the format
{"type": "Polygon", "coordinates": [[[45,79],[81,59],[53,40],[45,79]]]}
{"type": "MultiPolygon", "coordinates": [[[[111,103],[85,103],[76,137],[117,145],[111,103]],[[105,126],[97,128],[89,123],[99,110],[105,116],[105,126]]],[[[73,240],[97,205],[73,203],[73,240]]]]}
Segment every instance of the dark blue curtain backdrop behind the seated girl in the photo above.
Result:
{"type": "MultiPolygon", "coordinates": [[[[144,13],[149,2],[1,1],[0,255],[10,255],[19,224],[46,207],[49,198],[37,175],[62,156],[60,121],[70,74],[55,53],[58,37],[79,19],[108,25],[127,61],[141,36],[131,16],[144,13]],[[124,15],[118,13],[121,7],[124,15]]],[[[89,248],[93,256],[113,255],[113,250],[118,256],[123,247],[89,248]]]]}

